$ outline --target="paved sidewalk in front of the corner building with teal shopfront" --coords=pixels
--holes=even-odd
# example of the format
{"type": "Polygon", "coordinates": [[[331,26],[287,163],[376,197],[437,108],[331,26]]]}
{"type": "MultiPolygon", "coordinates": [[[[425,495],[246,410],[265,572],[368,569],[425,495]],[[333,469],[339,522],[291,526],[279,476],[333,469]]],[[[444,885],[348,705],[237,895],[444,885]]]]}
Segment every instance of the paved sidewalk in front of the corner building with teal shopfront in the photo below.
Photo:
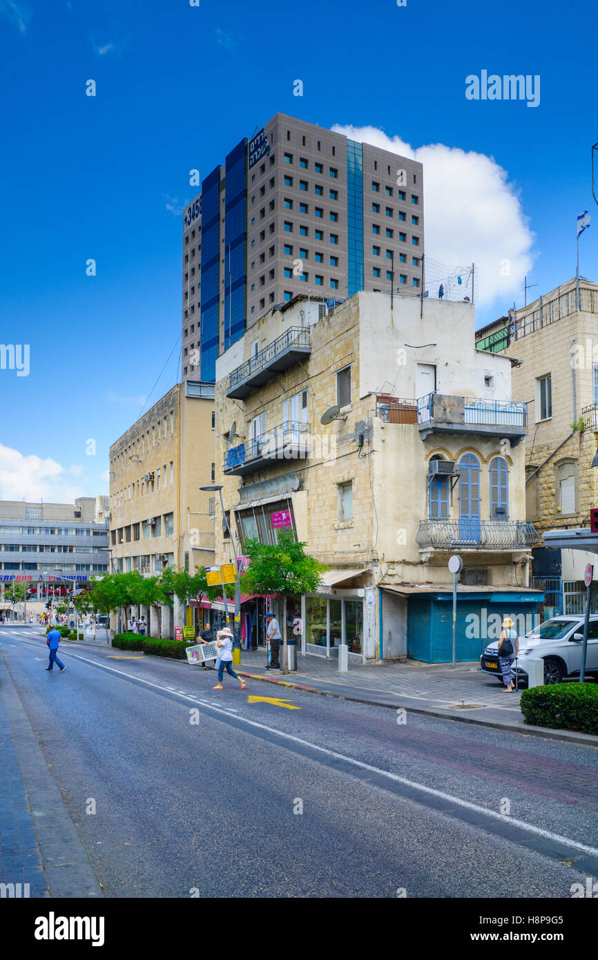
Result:
{"type": "Polygon", "coordinates": [[[477,660],[457,663],[454,669],[446,663],[414,660],[371,666],[349,664],[347,673],[340,673],[336,660],[299,656],[298,669],[288,676],[280,670],[266,670],[265,663],[264,650],[242,650],[241,664],[236,669],[253,680],[299,687],[356,703],[405,708],[412,713],[598,746],[598,736],[524,724],[519,709],[520,691],[504,693],[502,684],[483,673],[477,660]]]}

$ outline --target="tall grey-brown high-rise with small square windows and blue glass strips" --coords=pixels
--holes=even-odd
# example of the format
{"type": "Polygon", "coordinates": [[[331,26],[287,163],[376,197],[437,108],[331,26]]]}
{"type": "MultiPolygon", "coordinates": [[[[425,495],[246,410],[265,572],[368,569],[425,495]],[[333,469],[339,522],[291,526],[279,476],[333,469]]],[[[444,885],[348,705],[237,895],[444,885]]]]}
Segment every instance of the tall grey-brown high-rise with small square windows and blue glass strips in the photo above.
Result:
{"type": "Polygon", "coordinates": [[[297,294],[418,294],[422,253],[420,163],[276,113],[184,211],[182,378],[297,294]]]}

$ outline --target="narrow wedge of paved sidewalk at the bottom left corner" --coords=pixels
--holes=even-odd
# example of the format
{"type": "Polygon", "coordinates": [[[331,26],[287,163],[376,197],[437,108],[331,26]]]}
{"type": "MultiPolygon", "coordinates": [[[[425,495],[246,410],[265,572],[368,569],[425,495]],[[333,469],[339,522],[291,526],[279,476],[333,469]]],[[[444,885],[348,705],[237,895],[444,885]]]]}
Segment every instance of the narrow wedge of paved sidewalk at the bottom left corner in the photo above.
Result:
{"type": "Polygon", "coordinates": [[[1,651],[0,882],[0,897],[103,897],[1,651]]]}

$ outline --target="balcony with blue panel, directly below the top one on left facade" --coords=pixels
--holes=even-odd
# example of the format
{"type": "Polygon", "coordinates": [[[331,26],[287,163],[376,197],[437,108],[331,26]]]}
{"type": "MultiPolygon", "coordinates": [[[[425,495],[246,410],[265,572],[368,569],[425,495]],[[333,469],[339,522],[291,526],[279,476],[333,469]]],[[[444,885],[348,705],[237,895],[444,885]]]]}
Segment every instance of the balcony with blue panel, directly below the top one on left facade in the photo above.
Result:
{"type": "Polygon", "coordinates": [[[225,454],[227,476],[244,476],[270,467],[277,461],[302,460],[309,456],[309,423],[288,421],[268,430],[247,444],[231,447],[225,454]]]}

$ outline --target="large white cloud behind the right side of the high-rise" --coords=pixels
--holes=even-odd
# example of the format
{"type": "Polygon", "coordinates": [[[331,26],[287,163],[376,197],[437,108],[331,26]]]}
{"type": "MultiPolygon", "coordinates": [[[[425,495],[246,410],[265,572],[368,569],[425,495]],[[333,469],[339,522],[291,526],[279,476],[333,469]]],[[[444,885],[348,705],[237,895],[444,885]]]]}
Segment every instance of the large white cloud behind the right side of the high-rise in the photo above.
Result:
{"type": "Polygon", "coordinates": [[[477,305],[506,310],[534,259],[534,233],[507,171],[491,156],[443,143],[414,148],[377,127],[332,130],[423,164],[426,255],[448,265],[474,262],[477,305]]]}

